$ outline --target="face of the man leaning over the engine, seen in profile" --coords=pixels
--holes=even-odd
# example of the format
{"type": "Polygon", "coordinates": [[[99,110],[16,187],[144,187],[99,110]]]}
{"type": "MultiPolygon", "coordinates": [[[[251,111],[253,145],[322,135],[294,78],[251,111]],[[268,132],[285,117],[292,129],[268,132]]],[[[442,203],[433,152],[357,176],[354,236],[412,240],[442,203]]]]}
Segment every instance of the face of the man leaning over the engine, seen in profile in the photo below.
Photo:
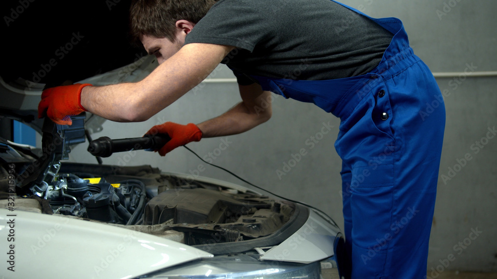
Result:
{"type": "Polygon", "coordinates": [[[184,44],[180,42],[179,38],[175,38],[174,42],[171,42],[167,38],[155,38],[143,35],[140,39],[145,50],[149,55],[155,55],[159,64],[162,64],[167,58],[177,53],[184,44]]]}

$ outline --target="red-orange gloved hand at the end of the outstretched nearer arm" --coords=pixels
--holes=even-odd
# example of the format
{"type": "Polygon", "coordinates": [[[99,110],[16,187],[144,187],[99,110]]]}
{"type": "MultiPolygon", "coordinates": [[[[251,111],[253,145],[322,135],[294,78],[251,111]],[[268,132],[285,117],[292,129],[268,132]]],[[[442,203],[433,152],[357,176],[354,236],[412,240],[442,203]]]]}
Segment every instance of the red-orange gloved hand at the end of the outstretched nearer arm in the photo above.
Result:
{"type": "Polygon", "coordinates": [[[38,118],[45,114],[57,124],[71,125],[70,115],[78,115],[86,110],[81,106],[81,90],[89,83],[57,86],[43,90],[38,105],[38,118]]]}

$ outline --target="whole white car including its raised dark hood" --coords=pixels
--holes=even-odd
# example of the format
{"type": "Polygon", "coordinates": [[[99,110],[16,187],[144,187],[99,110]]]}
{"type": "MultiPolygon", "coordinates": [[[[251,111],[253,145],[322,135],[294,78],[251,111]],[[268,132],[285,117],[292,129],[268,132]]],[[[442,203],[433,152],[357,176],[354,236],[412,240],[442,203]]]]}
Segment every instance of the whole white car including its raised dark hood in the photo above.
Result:
{"type": "Polygon", "coordinates": [[[0,279],[338,278],[342,234],[310,206],[150,166],[65,162],[102,119],[38,119],[43,88],[133,82],[157,62],[127,47],[127,0],[3,4],[0,279]],[[43,147],[11,142],[11,119],[43,147]]]}

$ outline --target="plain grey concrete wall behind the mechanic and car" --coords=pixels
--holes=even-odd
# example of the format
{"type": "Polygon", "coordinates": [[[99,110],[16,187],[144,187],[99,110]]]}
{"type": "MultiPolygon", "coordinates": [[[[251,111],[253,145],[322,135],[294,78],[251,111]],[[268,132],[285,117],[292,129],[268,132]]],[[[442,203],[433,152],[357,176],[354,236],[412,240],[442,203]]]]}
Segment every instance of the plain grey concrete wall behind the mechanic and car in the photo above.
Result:
{"type": "MultiPolygon", "coordinates": [[[[403,20],[415,53],[433,72],[462,72],[467,64],[476,66],[476,71],[497,70],[495,0],[343,2],[374,17],[393,16],[403,20]]],[[[233,77],[225,67],[218,69],[213,78],[233,77]]],[[[488,133],[497,126],[497,77],[469,76],[460,84],[451,78],[437,81],[442,91],[447,90],[447,123],[428,269],[431,272],[433,268],[433,278],[444,270],[497,271],[497,137],[491,138],[493,135],[488,133]],[[478,236],[471,234],[470,238],[473,230],[481,232],[478,236]]],[[[234,83],[202,83],[146,122],[107,121],[104,130],[93,137],[141,136],[153,125],[165,121],[198,123],[227,111],[239,101],[234,83]]],[[[338,119],[313,105],[277,96],[273,111],[271,120],[245,134],[203,139],[188,147],[201,157],[215,158],[214,164],[227,167],[256,185],[324,210],[343,227],[341,161],[333,148],[338,119]],[[320,134],[323,123],[333,126],[327,134],[320,134]],[[319,139],[314,146],[309,145],[311,137],[319,139]],[[224,149],[223,145],[221,150],[223,140],[228,147],[224,149]],[[284,172],[284,164],[301,149],[307,154],[288,173],[284,172]],[[277,170],[285,175],[278,175],[277,170]]],[[[86,145],[76,147],[71,160],[94,163],[85,149],[86,145]]],[[[143,151],[116,154],[104,159],[104,163],[150,164],[167,171],[193,174],[201,166],[200,169],[205,167],[199,171],[202,176],[245,185],[230,174],[202,163],[184,148],[166,157],[143,151]]]]}

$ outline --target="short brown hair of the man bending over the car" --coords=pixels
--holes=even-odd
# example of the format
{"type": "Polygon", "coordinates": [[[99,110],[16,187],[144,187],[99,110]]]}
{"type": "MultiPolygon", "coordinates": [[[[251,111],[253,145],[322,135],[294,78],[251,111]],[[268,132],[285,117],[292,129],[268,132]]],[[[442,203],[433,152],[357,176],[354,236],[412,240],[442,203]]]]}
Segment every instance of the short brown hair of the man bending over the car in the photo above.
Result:
{"type": "Polygon", "coordinates": [[[215,0],[134,0],[130,7],[130,31],[135,42],[142,35],[174,40],[176,21],[197,23],[215,0]]]}

